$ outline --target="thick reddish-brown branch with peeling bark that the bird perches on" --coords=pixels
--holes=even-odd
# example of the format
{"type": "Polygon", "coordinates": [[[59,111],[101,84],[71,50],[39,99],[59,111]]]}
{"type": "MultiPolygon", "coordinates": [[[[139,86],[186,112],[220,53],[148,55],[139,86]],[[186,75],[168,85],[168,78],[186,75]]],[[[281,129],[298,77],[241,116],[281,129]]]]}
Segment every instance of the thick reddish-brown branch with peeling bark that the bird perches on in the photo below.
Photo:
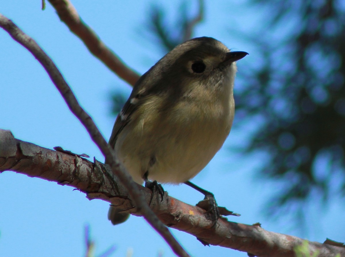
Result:
{"type": "MultiPolygon", "coordinates": [[[[62,152],[36,146],[15,139],[8,130],[0,130],[0,171],[12,170],[58,184],[69,185],[87,194],[88,199],[101,199],[112,203],[126,212],[141,216],[138,208],[131,204],[126,187],[115,178],[116,185],[109,179],[108,165],[94,163],[62,152]]],[[[138,184],[136,187],[149,203],[151,191],[138,184]]],[[[214,228],[206,220],[204,210],[188,205],[175,198],[164,195],[160,202],[157,193],[151,203],[152,210],[159,219],[171,228],[185,231],[211,245],[219,245],[256,256],[293,257],[294,247],[303,239],[269,232],[259,225],[246,225],[218,220],[214,228]]],[[[345,256],[345,248],[317,242],[309,242],[311,253],[319,251],[319,257],[333,257],[340,253],[345,256]]]]}

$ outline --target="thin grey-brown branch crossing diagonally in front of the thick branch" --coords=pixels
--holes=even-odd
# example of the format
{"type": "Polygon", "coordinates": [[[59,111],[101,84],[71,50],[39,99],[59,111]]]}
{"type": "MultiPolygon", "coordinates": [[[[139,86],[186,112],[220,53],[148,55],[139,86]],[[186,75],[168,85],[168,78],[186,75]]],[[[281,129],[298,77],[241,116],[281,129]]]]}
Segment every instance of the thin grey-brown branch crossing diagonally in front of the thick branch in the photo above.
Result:
{"type": "Polygon", "coordinates": [[[106,160],[109,160],[108,164],[110,165],[112,172],[118,176],[123,184],[126,185],[131,199],[140,210],[146,221],[166,240],[175,254],[178,256],[189,256],[180,246],[177,240],[171,235],[167,227],[164,226],[151,211],[149,206],[146,204],[144,197],[135,186],[136,184],[132,180],[131,176],[124,171],[123,167],[120,167],[120,164],[116,163],[116,157],[113,149],[103,138],[92,118],[79,105],[78,100],[72,93],[71,88],[49,56],[32,38],[21,31],[11,20],[4,17],[2,14],[0,14],[0,26],[6,30],[15,41],[24,46],[45,68],[53,84],[56,86],[61,96],[65,100],[68,108],[86,128],[92,141],[100,149],[106,160]]]}

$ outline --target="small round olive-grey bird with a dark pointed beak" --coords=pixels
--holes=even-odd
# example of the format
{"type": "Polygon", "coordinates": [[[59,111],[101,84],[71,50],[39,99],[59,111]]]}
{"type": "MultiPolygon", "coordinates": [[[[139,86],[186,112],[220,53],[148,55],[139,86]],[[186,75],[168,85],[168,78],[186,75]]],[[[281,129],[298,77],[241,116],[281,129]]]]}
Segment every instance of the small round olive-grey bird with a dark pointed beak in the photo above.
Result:
{"type": "MultiPolygon", "coordinates": [[[[157,181],[185,183],[205,199],[213,197],[189,180],[229,135],[235,112],[235,62],[247,54],[231,52],[214,38],[194,38],[176,46],[139,78],[109,140],[135,182],[145,181],[151,190],[156,186],[160,194],[164,191],[157,181]]],[[[128,218],[120,211],[110,207],[112,224],[128,218]]],[[[218,209],[215,212],[218,219],[218,209]]]]}

